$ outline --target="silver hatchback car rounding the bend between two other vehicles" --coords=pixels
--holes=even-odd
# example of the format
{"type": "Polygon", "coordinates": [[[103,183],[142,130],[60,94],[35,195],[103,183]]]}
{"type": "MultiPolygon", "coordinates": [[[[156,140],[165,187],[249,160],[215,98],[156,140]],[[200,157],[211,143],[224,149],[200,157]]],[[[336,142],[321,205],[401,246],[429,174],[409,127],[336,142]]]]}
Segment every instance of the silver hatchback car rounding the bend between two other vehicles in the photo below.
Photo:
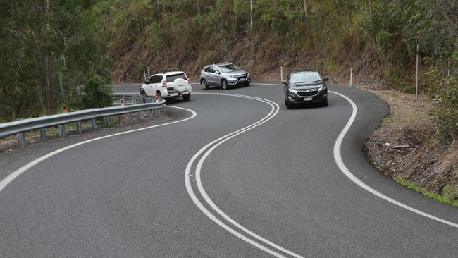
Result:
{"type": "Polygon", "coordinates": [[[233,63],[218,63],[205,66],[200,72],[200,85],[206,90],[209,86],[221,86],[224,90],[230,86],[245,85],[252,82],[249,73],[233,63]]]}

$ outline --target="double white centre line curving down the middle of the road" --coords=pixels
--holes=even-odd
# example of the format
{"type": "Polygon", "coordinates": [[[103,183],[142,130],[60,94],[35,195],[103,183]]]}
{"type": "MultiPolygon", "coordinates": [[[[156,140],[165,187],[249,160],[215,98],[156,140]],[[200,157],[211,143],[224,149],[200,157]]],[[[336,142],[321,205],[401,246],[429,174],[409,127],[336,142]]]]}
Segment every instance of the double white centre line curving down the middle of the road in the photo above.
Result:
{"type": "Polygon", "coordinates": [[[206,194],[206,192],[204,190],[204,186],[202,185],[202,180],[201,180],[202,179],[201,178],[202,164],[204,163],[206,157],[209,156],[209,154],[211,152],[213,152],[213,150],[216,149],[216,147],[218,147],[219,145],[223,144],[223,142],[225,142],[227,140],[230,140],[231,138],[233,138],[233,137],[235,137],[237,135],[245,133],[247,130],[251,130],[253,128],[256,128],[259,125],[261,125],[263,123],[266,123],[267,121],[271,120],[271,118],[276,116],[276,114],[278,113],[278,110],[280,109],[278,104],[276,104],[275,102],[271,102],[268,99],[261,99],[259,97],[251,97],[251,96],[240,95],[240,94],[224,94],[224,93],[198,93],[198,94],[223,95],[223,96],[230,96],[230,97],[242,97],[242,98],[247,98],[247,99],[254,99],[256,101],[260,101],[260,102],[264,102],[266,104],[269,104],[271,106],[271,112],[269,112],[267,116],[265,116],[264,118],[262,118],[259,121],[256,121],[256,123],[253,123],[252,125],[248,125],[245,128],[242,128],[240,130],[236,130],[233,133],[230,133],[228,135],[224,135],[223,137],[220,137],[220,138],[218,138],[216,140],[213,140],[213,142],[210,142],[208,145],[205,145],[204,147],[202,147],[202,149],[199,149],[199,152],[197,152],[196,154],[194,154],[194,156],[192,156],[192,159],[190,159],[189,163],[187,164],[186,171],[185,171],[185,184],[186,184],[187,192],[189,193],[192,201],[194,202],[194,204],[197,205],[197,207],[199,207],[199,209],[201,209],[204,212],[204,214],[206,214],[206,216],[209,217],[209,219],[211,219],[212,221],[216,222],[219,226],[223,227],[225,230],[229,231],[230,233],[233,233],[233,235],[235,235],[238,238],[244,240],[245,242],[249,242],[250,244],[254,245],[255,247],[258,247],[259,249],[264,250],[265,252],[268,252],[269,254],[272,254],[272,255],[274,255],[276,257],[284,257],[283,254],[279,254],[278,252],[275,252],[275,251],[273,251],[271,249],[268,249],[264,245],[260,245],[258,242],[255,242],[255,241],[245,237],[245,235],[242,235],[241,233],[238,233],[237,231],[234,231],[233,228],[230,228],[230,226],[226,225],[225,223],[223,223],[223,221],[219,220],[218,218],[216,218],[216,216],[211,214],[211,212],[204,207],[202,202],[200,202],[199,199],[194,194],[194,190],[192,189],[192,186],[191,186],[191,183],[190,183],[190,180],[189,180],[192,164],[194,164],[194,161],[197,159],[197,157],[200,154],[202,154],[202,152],[204,152],[211,145],[216,143],[215,145],[213,145],[213,147],[211,147],[208,151],[206,151],[206,153],[201,157],[201,159],[199,159],[199,162],[197,164],[197,168],[196,168],[196,171],[195,171],[195,176],[196,176],[196,181],[197,181],[197,188],[199,189],[200,195],[202,195],[202,197],[204,197],[206,203],[209,204],[209,206],[214,211],[216,211],[217,214],[222,216],[226,221],[228,221],[233,226],[239,228],[240,230],[244,231],[248,235],[251,235],[253,238],[256,238],[257,240],[259,240],[261,242],[264,242],[266,245],[270,245],[271,247],[276,248],[277,250],[280,250],[281,252],[284,252],[285,254],[290,254],[293,257],[302,258],[302,256],[300,256],[299,254],[295,254],[294,252],[291,252],[290,250],[287,250],[284,247],[281,247],[280,245],[276,245],[275,243],[273,243],[273,242],[271,242],[269,240],[266,240],[265,238],[261,237],[260,235],[257,235],[256,233],[253,233],[252,231],[249,231],[249,229],[245,228],[244,226],[240,225],[240,223],[237,223],[232,218],[230,218],[230,216],[228,216],[223,211],[221,211],[221,209],[219,209],[218,206],[216,206],[216,204],[214,204],[214,202],[211,200],[209,195],[206,194]]]}

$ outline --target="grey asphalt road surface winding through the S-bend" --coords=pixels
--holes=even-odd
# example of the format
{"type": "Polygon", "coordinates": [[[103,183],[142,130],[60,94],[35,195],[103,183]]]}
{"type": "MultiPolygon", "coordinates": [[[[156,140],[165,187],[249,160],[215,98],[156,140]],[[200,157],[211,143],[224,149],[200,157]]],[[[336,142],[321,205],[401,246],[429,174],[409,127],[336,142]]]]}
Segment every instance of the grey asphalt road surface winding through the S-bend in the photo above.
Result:
{"type": "Polygon", "coordinates": [[[363,143],[388,106],[329,89],[357,106],[340,148],[348,171],[405,207],[336,163],[355,111],[347,99],[287,110],[278,85],[193,85],[190,102],[171,103],[194,111],[181,110],[188,120],[87,142],[6,185],[0,257],[457,257],[457,209],[366,160],[363,143]]]}

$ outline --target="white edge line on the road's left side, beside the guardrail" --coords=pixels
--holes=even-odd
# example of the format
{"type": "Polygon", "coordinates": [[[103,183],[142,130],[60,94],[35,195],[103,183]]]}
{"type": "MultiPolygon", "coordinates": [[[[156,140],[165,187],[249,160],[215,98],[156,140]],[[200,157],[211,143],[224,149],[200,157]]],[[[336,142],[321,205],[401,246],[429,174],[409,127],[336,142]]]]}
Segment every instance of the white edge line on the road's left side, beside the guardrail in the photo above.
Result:
{"type": "Polygon", "coordinates": [[[114,136],[117,136],[117,135],[124,135],[126,133],[133,133],[133,132],[138,132],[138,131],[141,131],[141,130],[147,130],[147,129],[151,129],[151,128],[156,128],[156,127],[159,127],[159,126],[164,126],[164,125],[171,125],[173,123],[180,123],[180,122],[184,122],[184,121],[187,121],[187,120],[190,120],[192,118],[194,118],[195,116],[197,116],[197,113],[194,112],[193,110],[191,109],[185,109],[185,108],[182,108],[182,107],[179,107],[179,106],[170,106],[170,107],[173,107],[175,109],[183,109],[183,110],[186,110],[186,111],[189,111],[190,113],[192,113],[192,116],[188,117],[188,118],[185,118],[185,119],[181,119],[179,121],[173,121],[173,122],[169,122],[169,123],[163,123],[163,124],[160,124],[160,125],[152,125],[152,126],[148,126],[148,127],[145,127],[145,128],[139,128],[139,129],[135,129],[135,130],[128,130],[128,131],[125,131],[125,132],[121,132],[121,133],[115,133],[113,135],[105,135],[105,136],[101,136],[101,137],[97,137],[97,138],[94,138],[94,139],[91,139],[91,140],[85,140],[84,142],[78,142],[78,143],[75,143],[74,145],[69,145],[67,147],[63,147],[61,149],[56,149],[54,152],[50,152],[49,154],[46,154],[44,156],[41,156],[39,157],[38,159],[35,159],[33,161],[30,161],[28,164],[18,168],[18,170],[16,171],[13,171],[13,173],[9,174],[8,176],[6,176],[6,178],[4,178],[3,180],[0,181],[0,192],[1,190],[4,190],[4,188],[6,187],[6,185],[8,185],[9,183],[11,183],[14,179],[16,179],[18,176],[20,176],[22,173],[24,173],[25,171],[27,171],[28,169],[32,168],[33,166],[39,164],[40,162],[48,159],[49,157],[51,156],[54,156],[56,154],[59,154],[61,152],[65,152],[66,150],[68,149],[71,149],[73,147],[77,147],[77,146],[80,146],[80,145],[84,145],[85,143],[87,142],[94,142],[96,140],[101,140],[101,139],[105,139],[105,138],[109,138],[109,137],[114,137],[114,136]]]}

